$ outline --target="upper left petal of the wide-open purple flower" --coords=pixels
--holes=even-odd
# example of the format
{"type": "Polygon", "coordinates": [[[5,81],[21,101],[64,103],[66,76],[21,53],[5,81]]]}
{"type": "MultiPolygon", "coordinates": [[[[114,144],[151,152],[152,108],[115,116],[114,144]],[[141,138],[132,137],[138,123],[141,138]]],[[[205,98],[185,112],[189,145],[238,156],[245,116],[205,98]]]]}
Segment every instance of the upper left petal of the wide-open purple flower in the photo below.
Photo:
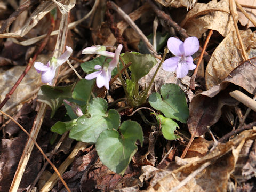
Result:
{"type": "Polygon", "coordinates": [[[177,39],[175,37],[170,37],[167,41],[167,47],[169,51],[172,52],[175,56],[181,57],[184,55],[184,46],[183,42],[180,41],[180,39],[177,39]]]}

